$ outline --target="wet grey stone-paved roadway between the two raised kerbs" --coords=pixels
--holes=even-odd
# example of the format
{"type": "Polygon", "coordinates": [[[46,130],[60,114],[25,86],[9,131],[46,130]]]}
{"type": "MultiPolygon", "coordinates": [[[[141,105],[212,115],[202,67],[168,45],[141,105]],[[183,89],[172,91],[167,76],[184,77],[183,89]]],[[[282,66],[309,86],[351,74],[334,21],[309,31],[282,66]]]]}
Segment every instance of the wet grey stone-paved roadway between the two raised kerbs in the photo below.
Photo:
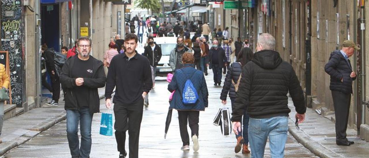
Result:
{"type": "MultiPolygon", "coordinates": [[[[179,134],[177,111],[173,110],[172,123],[170,124],[166,139],[164,139],[165,119],[168,113],[168,98],[170,93],[167,90],[168,83],[165,80],[157,80],[155,89],[149,94],[149,107],[144,108],[144,115],[141,124],[139,156],[142,158],[247,158],[251,154],[234,153],[236,143],[235,135],[223,137],[220,127],[212,124],[213,118],[221,105],[221,86],[213,85],[213,74],[211,70],[206,76],[209,90],[209,107],[200,112],[199,123],[199,144],[200,150],[182,151],[182,141],[179,134]]],[[[165,78],[157,78],[165,79],[165,78]]],[[[224,76],[223,76],[224,80],[224,76]]],[[[231,109],[228,98],[227,106],[231,109]]],[[[100,105],[101,112],[107,112],[104,101],[100,105]]],[[[114,118],[114,117],[113,117],[114,118]]],[[[92,150],[91,158],[117,158],[117,144],[113,136],[99,134],[101,113],[94,114],[92,124],[92,150]]],[[[114,121],[114,120],[113,120],[114,121]]],[[[190,128],[188,127],[190,132],[190,128]]],[[[129,137],[128,133],[127,136],[129,137]]],[[[128,138],[126,141],[128,151],[128,138]]],[[[14,148],[4,158],[68,158],[70,157],[68,140],[66,137],[66,121],[56,124],[32,140],[14,148]]],[[[268,143],[266,145],[265,157],[270,157],[268,143]]],[[[315,157],[310,151],[299,144],[290,134],[288,136],[285,157],[315,157]]]]}

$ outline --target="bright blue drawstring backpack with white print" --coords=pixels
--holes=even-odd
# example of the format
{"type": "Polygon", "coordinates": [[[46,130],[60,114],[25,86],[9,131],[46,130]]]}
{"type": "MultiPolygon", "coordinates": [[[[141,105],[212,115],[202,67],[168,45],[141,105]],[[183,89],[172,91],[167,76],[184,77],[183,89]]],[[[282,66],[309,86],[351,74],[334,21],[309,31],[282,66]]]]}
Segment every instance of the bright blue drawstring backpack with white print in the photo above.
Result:
{"type": "MultiPolygon", "coordinates": [[[[192,76],[195,74],[195,72],[192,73],[192,76]]],[[[182,93],[182,102],[185,105],[194,104],[196,103],[197,99],[199,99],[199,96],[197,95],[197,91],[191,82],[192,76],[186,80],[186,83],[184,83],[184,88],[183,88],[183,93],[182,93]]]]}

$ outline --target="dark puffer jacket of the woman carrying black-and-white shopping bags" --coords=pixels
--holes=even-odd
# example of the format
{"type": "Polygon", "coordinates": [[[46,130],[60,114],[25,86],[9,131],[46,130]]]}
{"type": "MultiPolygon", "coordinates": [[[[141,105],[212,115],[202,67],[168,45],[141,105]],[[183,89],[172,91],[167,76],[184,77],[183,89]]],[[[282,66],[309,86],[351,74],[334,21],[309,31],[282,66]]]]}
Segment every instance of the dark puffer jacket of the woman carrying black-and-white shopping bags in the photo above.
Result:
{"type": "Polygon", "coordinates": [[[227,75],[224,79],[224,85],[222,89],[222,93],[220,93],[221,100],[227,100],[227,94],[229,94],[230,98],[236,97],[236,91],[234,85],[232,84],[232,80],[234,83],[237,83],[239,75],[242,72],[242,65],[239,62],[234,62],[231,64],[230,68],[227,71],[227,75]]]}

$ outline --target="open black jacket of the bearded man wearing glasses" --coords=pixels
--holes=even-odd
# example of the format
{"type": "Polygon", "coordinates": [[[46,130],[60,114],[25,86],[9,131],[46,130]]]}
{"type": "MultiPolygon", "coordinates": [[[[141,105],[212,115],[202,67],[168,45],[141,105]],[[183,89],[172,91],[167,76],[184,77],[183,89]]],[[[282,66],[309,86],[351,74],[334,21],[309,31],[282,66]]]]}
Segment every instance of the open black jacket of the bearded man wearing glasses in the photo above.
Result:
{"type": "MultiPolygon", "coordinates": [[[[60,83],[64,88],[65,110],[79,110],[76,96],[73,93],[73,89],[77,86],[76,79],[71,78],[70,72],[73,71],[73,64],[77,58],[78,55],[68,58],[63,65],[63,71],[60,75],[60,83]]],[[[83,86],[89,87],[90,113],[93,114],[100,111],[100,98],[97,89],[105,86],[106,76],[103,62],[91,55],[90,58],[93,59],[93,78],[83,78],[83,86]]]]}

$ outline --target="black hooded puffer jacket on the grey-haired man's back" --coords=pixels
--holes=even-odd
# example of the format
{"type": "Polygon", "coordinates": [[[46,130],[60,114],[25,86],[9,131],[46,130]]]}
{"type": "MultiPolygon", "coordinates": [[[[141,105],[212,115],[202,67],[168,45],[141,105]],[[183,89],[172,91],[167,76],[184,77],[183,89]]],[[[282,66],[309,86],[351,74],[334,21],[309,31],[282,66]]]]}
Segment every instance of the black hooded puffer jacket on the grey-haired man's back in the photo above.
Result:
{"type": "Polygon", "coordinates": [[[267,119],[288,116],[287,93],[290,93],[297,113],[306,112],[304,93],[292,66],[282,61],[272,50],[256,52],[242,68],[232,121],[240,121],[244,110],[251,118],[267,119]]]}

